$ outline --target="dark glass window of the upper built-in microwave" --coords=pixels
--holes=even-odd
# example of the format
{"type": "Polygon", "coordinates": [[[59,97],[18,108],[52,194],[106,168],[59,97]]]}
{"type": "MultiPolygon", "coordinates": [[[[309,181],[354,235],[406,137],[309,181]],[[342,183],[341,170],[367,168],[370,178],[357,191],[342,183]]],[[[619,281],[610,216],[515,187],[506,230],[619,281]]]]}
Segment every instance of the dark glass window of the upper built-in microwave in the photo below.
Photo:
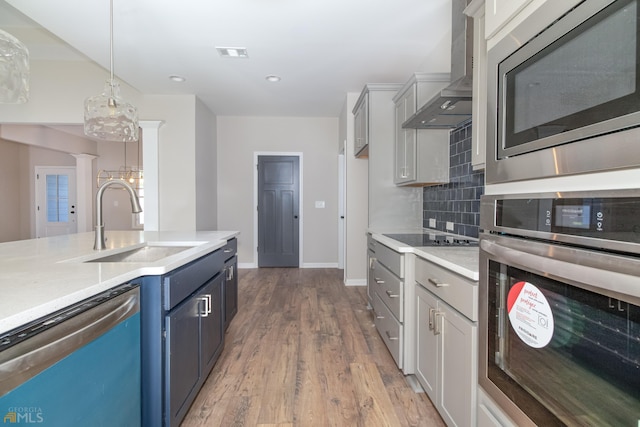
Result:
{"type": "Polygon", "coordinates": [[[638,58],[637,0],[623,0],[505,71],[503,147],[638,111],[638,58]]]}

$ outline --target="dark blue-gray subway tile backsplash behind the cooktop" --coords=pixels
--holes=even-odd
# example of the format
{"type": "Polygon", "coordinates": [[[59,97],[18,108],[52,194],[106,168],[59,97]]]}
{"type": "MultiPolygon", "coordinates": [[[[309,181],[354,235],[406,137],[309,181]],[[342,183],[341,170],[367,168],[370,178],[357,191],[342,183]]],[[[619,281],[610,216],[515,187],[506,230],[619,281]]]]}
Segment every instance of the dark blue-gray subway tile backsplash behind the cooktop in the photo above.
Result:
{"type": "Polygon", "coordinates": [[[435,228],[446,230],[453,223],[453,232],[478,237],[480,196],[484,194],[484,171],[471,166],[471,120],[451,131],[449,141],[449,183],[425,187],[422,194],[422,224],[436,220],[435,228]]]}

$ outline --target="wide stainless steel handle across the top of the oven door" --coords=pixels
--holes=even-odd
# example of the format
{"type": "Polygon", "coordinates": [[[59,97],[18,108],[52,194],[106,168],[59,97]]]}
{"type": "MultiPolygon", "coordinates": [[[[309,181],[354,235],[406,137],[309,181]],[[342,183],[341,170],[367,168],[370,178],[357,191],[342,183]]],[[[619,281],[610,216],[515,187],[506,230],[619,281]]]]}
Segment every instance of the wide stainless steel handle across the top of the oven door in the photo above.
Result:
{"type": "Polygon", "coordinates": [[[491,259],[506,265],[570,281],[614,298],[616,294],[624,294],[631,296],[636,303],[640,301],[638,259],[509,237],[495,240],[492,237],[483,238],[480,240],[480,249],[481,254],[489,254],[491,259]],[[606,289],[603,289],[605,285],[606,289]]]}

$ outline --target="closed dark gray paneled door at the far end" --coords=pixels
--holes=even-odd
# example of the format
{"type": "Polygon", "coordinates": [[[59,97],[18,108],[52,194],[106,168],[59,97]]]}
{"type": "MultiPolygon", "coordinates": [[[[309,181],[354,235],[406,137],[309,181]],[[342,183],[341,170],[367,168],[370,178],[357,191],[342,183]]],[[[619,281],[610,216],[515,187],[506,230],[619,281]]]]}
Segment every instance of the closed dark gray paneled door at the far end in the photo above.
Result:
{"type": "Polygon", "coordinates": [[[258,156],[258,267],[299,266],[299,163],[258,156]]]}

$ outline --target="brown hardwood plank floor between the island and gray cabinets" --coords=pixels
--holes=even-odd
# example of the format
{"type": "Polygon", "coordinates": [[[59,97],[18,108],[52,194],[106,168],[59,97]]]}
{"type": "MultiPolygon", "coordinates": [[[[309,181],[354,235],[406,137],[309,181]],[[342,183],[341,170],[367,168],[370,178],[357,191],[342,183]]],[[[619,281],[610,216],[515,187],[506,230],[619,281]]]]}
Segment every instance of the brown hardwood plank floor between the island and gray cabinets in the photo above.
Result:
{"type": "Polygon", "coordinates": [[[376,332],[366,288],[345,287],[342,270],[240,270],[225,340],[183,427],[444,425],[376,332]]]}

